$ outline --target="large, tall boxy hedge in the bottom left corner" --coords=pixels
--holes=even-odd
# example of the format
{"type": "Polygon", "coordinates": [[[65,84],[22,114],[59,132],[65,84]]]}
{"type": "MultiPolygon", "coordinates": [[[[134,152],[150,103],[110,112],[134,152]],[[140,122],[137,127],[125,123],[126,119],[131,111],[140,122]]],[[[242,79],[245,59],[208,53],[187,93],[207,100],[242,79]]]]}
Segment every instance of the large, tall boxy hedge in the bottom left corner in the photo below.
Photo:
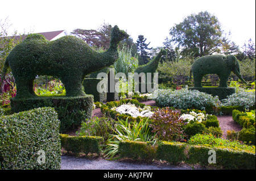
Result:
{"type": "Polygon", "coordinates": [[[59,125],[50,107],[0,117],[0,169],[60,169],[59,125]]]}

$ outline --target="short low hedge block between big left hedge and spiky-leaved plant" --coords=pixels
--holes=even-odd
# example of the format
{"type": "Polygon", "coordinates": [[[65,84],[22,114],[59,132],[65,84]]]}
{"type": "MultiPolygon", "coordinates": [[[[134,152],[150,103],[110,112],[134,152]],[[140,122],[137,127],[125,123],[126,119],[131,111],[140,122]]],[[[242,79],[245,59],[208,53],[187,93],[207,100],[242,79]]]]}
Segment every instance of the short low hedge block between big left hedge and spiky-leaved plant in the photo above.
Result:
{"type": "Polygon", "coordinates": [[[85,154],[101,154],[101,141],[103,141],[102,137],[98,136],[69,136],[68,134],[60,134],[61,146],[66,151],[76,154],[80,152],[85,154]]]}

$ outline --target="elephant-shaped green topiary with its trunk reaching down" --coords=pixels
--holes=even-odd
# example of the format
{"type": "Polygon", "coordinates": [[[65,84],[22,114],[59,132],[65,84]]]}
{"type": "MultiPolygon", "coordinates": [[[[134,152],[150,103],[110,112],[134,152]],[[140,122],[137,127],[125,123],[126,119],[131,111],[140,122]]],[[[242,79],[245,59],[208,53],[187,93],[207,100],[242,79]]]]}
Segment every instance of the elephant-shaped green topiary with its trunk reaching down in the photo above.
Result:
{"type": "MultiPolygon", "coordinates": [[[[192,65],[191,74],[193,73],[194,87],[202,87],[201,80],[206,74],[217,74],[220,78],[219,87],[228,87],[228,78],[233,71],[242,82],[246,81],[240,74],[238,60],[233,55],[211,55],[198,58],[192,65]]],[[[191,75],[190,75],[191,77],[191,75]]]]}

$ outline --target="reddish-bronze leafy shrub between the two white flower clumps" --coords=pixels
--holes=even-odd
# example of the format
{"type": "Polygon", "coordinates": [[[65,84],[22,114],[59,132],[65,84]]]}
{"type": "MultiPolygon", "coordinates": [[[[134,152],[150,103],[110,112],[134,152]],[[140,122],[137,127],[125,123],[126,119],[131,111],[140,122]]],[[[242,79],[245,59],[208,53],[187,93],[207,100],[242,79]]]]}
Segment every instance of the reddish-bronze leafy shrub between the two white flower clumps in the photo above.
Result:
{"type": "Polygon", "coordinates": [[[169,107],[155,111],[150,117],[152,132],[156,132],[160,140],[183,141],[185,120],[180,119],[180,114],[179,110],[170,110],[169,107]]]}

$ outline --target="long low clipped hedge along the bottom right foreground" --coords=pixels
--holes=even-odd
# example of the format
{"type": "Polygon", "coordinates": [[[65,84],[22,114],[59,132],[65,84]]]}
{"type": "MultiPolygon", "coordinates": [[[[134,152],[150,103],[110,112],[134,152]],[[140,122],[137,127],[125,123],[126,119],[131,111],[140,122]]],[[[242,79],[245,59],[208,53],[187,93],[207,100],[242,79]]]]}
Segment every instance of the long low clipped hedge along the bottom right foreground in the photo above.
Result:
{"type": "Polygon", "coordinates": [[[119,144],[122,158],[161,159],[170,163],[199,163],[202,166],[221,166],[224,169],[255,169],[255,153],[229,148],[188,145],[162,141],[158,146],[146,142],[122,141],[119,144]],[[216,163],[213,154],[216,154],[216,163]]]}

